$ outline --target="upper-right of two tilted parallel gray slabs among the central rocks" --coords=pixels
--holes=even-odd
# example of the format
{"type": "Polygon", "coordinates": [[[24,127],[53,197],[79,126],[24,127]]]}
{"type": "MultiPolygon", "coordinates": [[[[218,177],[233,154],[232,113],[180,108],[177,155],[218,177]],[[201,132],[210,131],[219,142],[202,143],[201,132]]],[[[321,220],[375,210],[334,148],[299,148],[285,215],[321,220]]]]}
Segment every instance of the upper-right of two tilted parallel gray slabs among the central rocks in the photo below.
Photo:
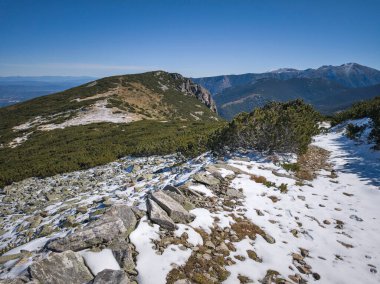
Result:
{"type": "Polygon", "coordinates": [[[188,223],[195,219],[195,215],[189,213],[181,204],[163,191],[152,193],[151,198],[168,213],[175,223],[188,223]]]}

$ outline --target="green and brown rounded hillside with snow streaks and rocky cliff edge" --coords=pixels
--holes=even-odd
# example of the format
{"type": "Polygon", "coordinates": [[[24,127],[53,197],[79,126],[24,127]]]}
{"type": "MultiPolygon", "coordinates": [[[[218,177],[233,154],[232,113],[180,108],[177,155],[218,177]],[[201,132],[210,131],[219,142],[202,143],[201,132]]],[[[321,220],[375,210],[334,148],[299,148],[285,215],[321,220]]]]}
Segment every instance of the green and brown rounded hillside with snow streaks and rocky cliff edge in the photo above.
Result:
{"type": "Polygon", "coordinates": [[[195,154],[220,123],[210,93],[179,74],[99,79],[0,109],[0,184],[130,154],[195,154]]]}

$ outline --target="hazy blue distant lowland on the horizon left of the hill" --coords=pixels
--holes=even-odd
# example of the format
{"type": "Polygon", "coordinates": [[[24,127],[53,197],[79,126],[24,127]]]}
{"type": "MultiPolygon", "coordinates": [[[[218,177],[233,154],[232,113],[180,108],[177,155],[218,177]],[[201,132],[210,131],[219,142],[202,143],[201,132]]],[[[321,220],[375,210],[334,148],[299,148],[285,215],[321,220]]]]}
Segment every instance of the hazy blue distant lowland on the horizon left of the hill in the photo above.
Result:
{"type": "Polygon", "coordinates": [[[0,107],[60,92],[95,79],[86,76],[0,77],[0,107]]]}

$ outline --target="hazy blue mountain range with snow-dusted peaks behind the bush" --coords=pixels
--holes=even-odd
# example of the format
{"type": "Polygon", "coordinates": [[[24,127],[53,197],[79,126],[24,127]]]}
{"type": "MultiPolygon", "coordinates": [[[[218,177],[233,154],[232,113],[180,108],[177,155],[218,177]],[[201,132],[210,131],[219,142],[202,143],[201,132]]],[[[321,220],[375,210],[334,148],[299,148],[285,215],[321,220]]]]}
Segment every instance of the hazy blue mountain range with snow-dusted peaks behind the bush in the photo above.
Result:
{"type": "Polygon", "coordinates": [[[268,101],[301,98],[320,112],[331,114],[380,95],[380,71],[357,63],[306,70],[283,68],[193,81],[210,90],[219,114],[226,119],[268,101]]]}

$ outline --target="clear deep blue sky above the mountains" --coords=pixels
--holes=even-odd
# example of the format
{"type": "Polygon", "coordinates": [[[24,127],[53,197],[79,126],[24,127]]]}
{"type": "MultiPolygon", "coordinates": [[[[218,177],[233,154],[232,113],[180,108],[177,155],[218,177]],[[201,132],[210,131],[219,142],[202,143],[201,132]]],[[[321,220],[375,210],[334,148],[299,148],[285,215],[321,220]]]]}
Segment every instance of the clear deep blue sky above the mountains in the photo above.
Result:
{"type": "Polygon", "coordinates": [[[0,76],[380,69],[380,0],[0,0],[0,76]]]}

